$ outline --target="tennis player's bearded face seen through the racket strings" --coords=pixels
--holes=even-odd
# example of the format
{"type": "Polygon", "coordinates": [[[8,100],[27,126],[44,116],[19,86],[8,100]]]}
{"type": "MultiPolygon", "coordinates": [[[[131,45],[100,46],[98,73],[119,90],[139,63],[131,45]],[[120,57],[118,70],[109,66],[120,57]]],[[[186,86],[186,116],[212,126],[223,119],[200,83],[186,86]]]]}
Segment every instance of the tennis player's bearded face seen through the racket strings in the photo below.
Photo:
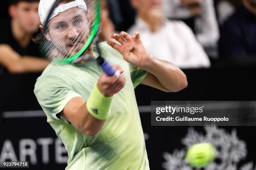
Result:
{"type": "Polygon", "coordinates": [[[90,33],[90,22],[84,9],[73,7],[51,19],[46,38],[64,57],[82,49],[90,33]]]}

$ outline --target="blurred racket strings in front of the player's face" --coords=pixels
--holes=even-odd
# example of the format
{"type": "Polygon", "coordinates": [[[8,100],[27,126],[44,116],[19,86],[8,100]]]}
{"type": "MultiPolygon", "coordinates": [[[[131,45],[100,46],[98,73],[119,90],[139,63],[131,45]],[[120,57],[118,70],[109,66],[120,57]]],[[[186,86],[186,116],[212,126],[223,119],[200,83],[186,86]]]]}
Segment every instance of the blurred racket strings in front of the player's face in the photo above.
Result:
{"type": "MultiPolygon", "coordinates": [[[[44,39],[42,40],[43,44],[43,52],[50,60],[61,61],[73,57],[77,53],[80,52],[81,49],[84,51],[87,47],[84,47],[87,43],[88,37],[92,34],[91,30],[93,25],[95,25],[95,18],[96,18],[96,5],[94,2],[95,0],[86,0],[87,11],[82,8],[77,8],[78,11],[78,18],[72,18],[72,20],[64,20],[66,21],[67,28],[61,31],[58,29],[54,29],[54,26],[51,25],[52,20],[48,21],[48,25],[45,25],[49,30],[46,30],[44,39]],[[81,15],[81,11],[84,12],[81,15]]],[[[72,8],[71,8],[72,9],[72,8]]],[[[69,10],[71,10],[69,9],[69,10]]],[[[69,12],[66,10],[64,13],[59,13],[61,18],[69,18],[69,15],[74,15],[76,10],[72,10],[69,12]]],[[[90,45],[90,44],[89,44],[90,45]]],[[[88,45],[88,46],[89,46],[88,45]]],[[[74,58],[75,59],[75,58],[74,58]]]]}

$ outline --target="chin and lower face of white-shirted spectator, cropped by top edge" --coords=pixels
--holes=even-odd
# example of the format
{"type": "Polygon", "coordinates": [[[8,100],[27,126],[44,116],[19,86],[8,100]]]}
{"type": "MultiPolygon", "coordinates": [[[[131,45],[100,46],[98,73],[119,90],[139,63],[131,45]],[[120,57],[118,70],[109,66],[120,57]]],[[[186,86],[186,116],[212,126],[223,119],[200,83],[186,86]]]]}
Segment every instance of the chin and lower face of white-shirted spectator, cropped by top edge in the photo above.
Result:
{"type": "Polygon", "coordinates": [[[152,8],[161,9],[162,0],[132,0],[133,6],[142,13],[148,13],[152,8]]]}

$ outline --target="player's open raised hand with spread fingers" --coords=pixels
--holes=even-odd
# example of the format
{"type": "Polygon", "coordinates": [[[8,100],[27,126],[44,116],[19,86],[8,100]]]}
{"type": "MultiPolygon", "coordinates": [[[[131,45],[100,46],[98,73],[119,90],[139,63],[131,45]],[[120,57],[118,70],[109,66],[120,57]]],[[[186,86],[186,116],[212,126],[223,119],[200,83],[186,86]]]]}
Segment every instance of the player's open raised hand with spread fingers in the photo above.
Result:
{"type": "Polygon", "coordinates": [[[120,42],[121,45],[113,41],[108,41],[108,45],[118,50],[125,61],[142,69],[150,62],[151,57],[141,42],[139,32],[133,32],[131,37],[122,31],[119,35],[113,34],[111,37],[120,42]]]}

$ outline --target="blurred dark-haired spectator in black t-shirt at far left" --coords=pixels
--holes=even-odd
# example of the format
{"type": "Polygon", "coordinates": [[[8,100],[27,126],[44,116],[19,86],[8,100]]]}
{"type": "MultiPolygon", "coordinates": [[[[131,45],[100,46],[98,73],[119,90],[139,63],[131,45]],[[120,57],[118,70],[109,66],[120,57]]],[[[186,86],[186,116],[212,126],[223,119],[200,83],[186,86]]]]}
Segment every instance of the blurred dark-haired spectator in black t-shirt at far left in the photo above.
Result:
{"type": "Polygon", "coordinates": [[[38,72],[49,61],[39,58],[39,46],[31,38],[40,24],[39,0],[11,0],[11,20],[3,21],[0,35],[0,65],[9,72],[38,72]]]}

